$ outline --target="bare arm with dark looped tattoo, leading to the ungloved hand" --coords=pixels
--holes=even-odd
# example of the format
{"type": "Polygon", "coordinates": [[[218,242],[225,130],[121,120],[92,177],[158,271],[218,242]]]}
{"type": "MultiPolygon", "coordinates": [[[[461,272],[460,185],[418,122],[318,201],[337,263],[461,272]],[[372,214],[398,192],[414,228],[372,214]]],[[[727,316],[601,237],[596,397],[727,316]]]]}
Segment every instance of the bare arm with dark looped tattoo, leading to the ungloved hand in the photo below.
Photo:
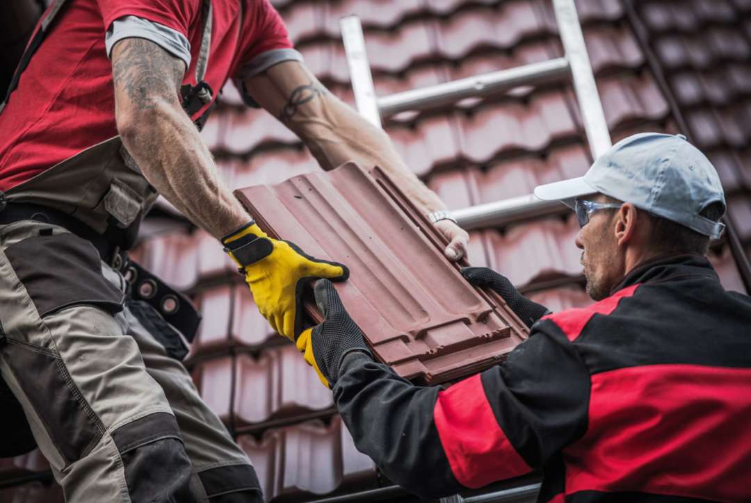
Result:
{"type": "Polygon", "coordinates": [[[274,65],[245,80],[253,98],[294,131],[324,170],[347,161],[378,165],[425,212],[445,209],[404,164],[388,135],[332,95],[299,62],[274,65]]]}

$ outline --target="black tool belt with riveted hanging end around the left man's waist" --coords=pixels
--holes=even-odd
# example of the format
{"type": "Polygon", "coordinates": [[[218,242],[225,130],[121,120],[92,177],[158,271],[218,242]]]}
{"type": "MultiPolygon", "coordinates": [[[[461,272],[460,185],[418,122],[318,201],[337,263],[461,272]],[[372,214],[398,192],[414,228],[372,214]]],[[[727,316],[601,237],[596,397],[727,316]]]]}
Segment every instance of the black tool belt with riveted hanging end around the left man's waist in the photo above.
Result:
{"type": "MultiPolygon", "coordinates": [[[[0,192],[0,201],[2,201],[2,192],[0,192]]],[[[131,261],[128,254],[120,250],[118,245],[110,242],[107,236],[97,233],[71,215],[46,206],[32,203],[5,203],[5,208],[3,208],[0,202],[0,225],[22,220],[59,225],[91,242],[99,252],[101,260],[122,273],[125,281],[128,282],[126,291],[128,299],[137,310],[142,311],[138,309],[139,303],[148,304],[164,318],[164,321],[175,327],[187,342],[193,342],[198,324],[201,323],[201,315],[189,298],[149,273],[140,264],[131,261]]],[[[178,360],[182,360],[187,353],[187,350],[181,348],[166,349],[178,360]]]]}

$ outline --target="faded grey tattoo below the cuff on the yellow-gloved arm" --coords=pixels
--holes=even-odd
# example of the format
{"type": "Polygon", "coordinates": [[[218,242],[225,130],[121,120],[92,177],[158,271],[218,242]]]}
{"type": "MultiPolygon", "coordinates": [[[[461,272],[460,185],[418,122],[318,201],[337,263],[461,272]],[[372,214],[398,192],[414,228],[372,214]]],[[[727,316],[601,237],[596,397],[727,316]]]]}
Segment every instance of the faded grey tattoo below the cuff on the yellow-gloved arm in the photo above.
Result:
{"type": "Polygon", "coordinates": [[[113,51],[113,81],[138,110],[153,110],[161,98],[177,98],[185,64],[152,41],[128,38],[113,51]]]}

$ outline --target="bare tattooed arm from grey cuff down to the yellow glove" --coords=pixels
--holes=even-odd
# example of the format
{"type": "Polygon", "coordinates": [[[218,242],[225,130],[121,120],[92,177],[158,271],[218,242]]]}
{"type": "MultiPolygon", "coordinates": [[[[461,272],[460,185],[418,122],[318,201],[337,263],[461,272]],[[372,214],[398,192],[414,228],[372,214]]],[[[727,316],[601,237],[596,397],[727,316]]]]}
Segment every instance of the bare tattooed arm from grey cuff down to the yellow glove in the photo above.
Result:
{"type": "Polygon", "coordinates": [[[151,41],[125,38],[113,47],[112,68],[117,130],[143,176],[217,238],[249,221],[182,110],[179,86],[185,64],[151,41]]]}

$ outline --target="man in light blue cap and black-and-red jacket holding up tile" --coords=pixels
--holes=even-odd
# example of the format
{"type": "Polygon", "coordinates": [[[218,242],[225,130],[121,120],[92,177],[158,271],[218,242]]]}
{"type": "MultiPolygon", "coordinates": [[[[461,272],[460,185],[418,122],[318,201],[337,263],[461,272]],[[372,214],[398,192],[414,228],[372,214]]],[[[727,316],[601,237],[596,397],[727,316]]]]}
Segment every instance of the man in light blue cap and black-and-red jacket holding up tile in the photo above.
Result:
{"type": "Polygon", "coordinates": [[[551,314],[486,268],[530,327],[508,360],[448,389],[373,360],[333,284],[306,330],[357,449],[440,497],[539,470],[538,501],[751,501],[751,298],[705,257],[723,225],[714,167],[680,135],[636,134],[578,179],[535,190],[576,209],[587,292],[551,314]]]}

